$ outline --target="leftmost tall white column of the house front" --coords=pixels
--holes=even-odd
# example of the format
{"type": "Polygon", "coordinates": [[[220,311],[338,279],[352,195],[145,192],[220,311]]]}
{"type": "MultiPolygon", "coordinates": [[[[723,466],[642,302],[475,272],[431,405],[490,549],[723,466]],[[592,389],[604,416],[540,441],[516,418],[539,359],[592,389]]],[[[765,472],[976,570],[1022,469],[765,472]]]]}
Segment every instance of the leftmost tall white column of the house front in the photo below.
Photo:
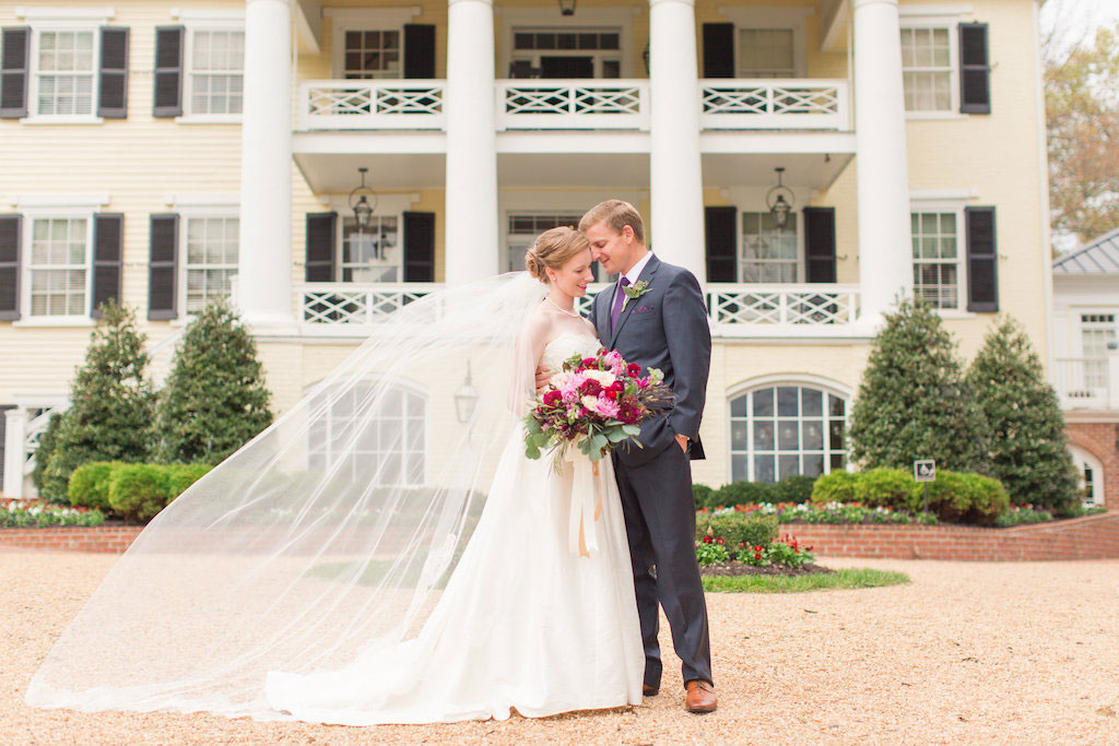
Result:
{"type": "Polygon", "coordinates": [[[291,6],[247,0],[237,304],[254,329],[290,327],[291,6]]]}

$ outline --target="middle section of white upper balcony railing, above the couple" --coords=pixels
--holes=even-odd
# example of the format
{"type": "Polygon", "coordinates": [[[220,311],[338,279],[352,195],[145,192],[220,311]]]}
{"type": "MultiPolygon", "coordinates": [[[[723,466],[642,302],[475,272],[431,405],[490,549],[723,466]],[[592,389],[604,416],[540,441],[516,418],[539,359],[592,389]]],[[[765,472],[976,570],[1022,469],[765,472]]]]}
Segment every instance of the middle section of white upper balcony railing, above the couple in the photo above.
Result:
{"type": "Polygon", "coordinates": [[[649,82],[498,81],[498,130],[648,130],[649,82]]]}

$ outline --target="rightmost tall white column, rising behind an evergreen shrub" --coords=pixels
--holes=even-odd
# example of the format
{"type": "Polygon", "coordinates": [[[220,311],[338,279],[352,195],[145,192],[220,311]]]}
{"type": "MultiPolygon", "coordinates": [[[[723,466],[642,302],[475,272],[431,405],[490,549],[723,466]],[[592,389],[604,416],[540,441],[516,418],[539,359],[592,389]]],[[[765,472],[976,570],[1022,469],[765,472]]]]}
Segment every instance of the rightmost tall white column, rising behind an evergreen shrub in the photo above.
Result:
{"type": "Polygon", "coordinates": [[[876,325],[912,293],[905,97],[897,0],[854,0],[855,164],[862,320],[876,325]]]}

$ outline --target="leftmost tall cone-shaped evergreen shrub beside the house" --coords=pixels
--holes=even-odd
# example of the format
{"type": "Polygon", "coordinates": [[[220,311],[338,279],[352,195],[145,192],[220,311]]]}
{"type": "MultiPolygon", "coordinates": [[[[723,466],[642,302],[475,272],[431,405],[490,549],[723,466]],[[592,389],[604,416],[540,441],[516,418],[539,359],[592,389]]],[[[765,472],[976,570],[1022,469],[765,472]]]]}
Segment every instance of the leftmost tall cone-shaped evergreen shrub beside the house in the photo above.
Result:
{"type": "Polygon", "coordinates": [[[137,329],[132,309],[110,300],[70,387],[70,405],[62,415],[47,474],[67,500],[75,469],[90,461],[143,461],[149,456],[156,395],[148,379],[147,337],[137,329]]]}

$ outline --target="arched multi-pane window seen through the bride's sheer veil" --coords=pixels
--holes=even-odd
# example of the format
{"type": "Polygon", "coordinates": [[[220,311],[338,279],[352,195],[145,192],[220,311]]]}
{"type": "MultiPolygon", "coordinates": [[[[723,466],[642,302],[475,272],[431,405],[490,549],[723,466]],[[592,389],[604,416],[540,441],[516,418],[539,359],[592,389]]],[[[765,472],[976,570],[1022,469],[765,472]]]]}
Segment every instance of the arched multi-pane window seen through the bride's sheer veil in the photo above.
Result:
{"type": "Polygon", "coordinates": [[[425,406],[422,396],[403,387],[354,387],[330,405],[329,418],[309,434],[309,466],[338,468],[377,487],[423,484],[425,406]]]}

